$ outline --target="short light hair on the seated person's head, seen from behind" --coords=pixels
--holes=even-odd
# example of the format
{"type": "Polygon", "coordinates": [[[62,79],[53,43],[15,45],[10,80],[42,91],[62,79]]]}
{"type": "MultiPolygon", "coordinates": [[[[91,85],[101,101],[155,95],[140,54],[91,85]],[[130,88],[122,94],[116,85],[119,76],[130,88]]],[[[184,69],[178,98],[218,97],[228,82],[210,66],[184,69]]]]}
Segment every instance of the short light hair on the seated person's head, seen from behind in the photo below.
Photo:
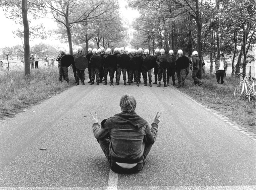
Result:
{"type": "Polygon", "coordinates": [[[137,103],[134,96],[130,94],[124,94],[120,99],[119,106],[123,112],[131,113],[135,111],[136,104],[137,103]]]}

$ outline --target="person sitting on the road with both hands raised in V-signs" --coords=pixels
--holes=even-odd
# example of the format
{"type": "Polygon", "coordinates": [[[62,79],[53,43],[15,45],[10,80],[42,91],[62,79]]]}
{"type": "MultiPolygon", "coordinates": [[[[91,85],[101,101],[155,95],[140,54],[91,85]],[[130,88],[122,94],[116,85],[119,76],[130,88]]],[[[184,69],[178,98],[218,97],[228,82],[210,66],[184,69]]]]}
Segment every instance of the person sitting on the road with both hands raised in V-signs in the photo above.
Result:
{"type": "Polygon", "coordinates": [[[120,113],[98,123],[92,114],[93,132],[108,159],[110,169],[116,173],[136,173],[142,170],[145,159],[156,140],[160,113],[152,127],[135,113],[136,100],[124,94],[119,103],[120,113]]]}

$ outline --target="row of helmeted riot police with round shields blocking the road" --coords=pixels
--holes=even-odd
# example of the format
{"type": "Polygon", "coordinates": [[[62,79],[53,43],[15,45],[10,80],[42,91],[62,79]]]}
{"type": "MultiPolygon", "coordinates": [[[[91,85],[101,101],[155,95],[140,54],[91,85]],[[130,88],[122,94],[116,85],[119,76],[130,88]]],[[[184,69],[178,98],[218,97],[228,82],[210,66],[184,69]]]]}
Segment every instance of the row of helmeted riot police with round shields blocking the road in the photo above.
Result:
{"type": "MultiPolygon", "coordinates": [[[[89,48],[88,54],[86,55],[83,53],[82,47],[79,46],[78,50],[73,51],[74,61],[71,65],[76,85],[79,85],[79,80],[81,80],[81,83],[85,85],[84,71],[86,68],[88,68],[90,79],[88,83],[90,83],[90,85],[93,85],[95,80],[97,85],[103,81],[104,85],[107,85],[108,75],[110,78],[110,85],[113,85],[114,73],[115,85],[119,85],[120,76],[122,73],[124,85],[131,85],[131,83],[134,83],[134,80],[136,85],[139,86],[141,83],[142,74],[144,86],[147,86],[149,82],[149,86],[152,87],[151,70],[154,69],[155,82],[153,84],[157,84],[158,81],[157,86],[160,87],[163,78],[164,87],[167,87],[171,78],[173,85],[176,85],[176,72],[178,78],[178,86],[184,87],[185,70],[189,68],[191,59],[183,56],[182,50],[178,50],[177,53],[177,56],[174,56],[173,51],[170,50],[168,55],[165,55],[164,49],[156,49],[155,54],[152,56],[149,55],[148,49],[144,50],[144,52],[141,48],[138,50],[132,49],[130,52],[125,53],[124,48],[115,48],[112,54],[110,48],[108,48],[106,51],[104,48],[98,50],[89,48]],[[126,83],[127,79],[128,81],[126,83]]],[[[60,56],[61,53],[59,57],[60,56]]],[[[59,59],[57,61],[59,61],[59,59]]],[[[59,67],[62,68],[62,65],[63,64],[59,64],[59,67]]],[[[67,75],[66,68],[64,68],[64,71],[65,72],[60,72],[60,81],[62,81],[61,78],[63,73],[65,76],[67,75]]]]}

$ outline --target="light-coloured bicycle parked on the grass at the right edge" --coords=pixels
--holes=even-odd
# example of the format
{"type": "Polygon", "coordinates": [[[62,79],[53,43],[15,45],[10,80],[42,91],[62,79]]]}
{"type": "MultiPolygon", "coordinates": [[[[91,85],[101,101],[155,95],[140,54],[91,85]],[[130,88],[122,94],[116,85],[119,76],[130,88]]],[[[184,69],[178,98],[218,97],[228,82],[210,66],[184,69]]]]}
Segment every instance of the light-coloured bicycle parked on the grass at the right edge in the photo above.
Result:
{"type": "Polygon", "coordinates": [[[256,78],[252,77],[253,82],[251,80],[251,75],[240,73],[238,77],[241,78],[240,82],[236,85],[234,96],[239,97],[243,94],[249,98],[249,101],[256,100],[256,78]],[[247,80],[248,78],[248,80],[247,80]]]}

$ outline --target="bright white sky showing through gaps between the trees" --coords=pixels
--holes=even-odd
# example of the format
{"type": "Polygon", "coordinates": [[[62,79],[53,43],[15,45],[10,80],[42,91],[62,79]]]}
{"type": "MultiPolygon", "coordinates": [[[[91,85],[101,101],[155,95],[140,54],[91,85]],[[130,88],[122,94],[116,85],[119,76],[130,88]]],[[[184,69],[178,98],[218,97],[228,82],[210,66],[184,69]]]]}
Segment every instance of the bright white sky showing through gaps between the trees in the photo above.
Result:
{"type": "MultiPolygon", "coordinates": [[[[127,4],[125,0],[119,0],[120,4],[120,12],[123,14],[127,20],[132,21],[133,18],[138,17],[139,13],[138,11],[131,10],[131,9],[125,9],[125,5],[127,4]]],[[[0,11],[0,20],[1,20],[1,29],[0,29],[0,48],[13,46],[16,44],[22,44],[21,39],[16,37],[12,32],[16,30],[17,25],[14,23],[14,21],[8,19],[5,17],[4,12],[0,11]]],[[[56,22],[52,19],[41,19],[37,20],[37,22],[44,23],[44,26],[47,30],[51,29],[53,26],[56,26],[56,22]]],[[[44,43],[60,43],[58,39],[47,39],[47,40],[36,40],[33,41],[30,40],[30,45],[35,45],[36,43],[39,43],[40,41],[44,43]]]]}

